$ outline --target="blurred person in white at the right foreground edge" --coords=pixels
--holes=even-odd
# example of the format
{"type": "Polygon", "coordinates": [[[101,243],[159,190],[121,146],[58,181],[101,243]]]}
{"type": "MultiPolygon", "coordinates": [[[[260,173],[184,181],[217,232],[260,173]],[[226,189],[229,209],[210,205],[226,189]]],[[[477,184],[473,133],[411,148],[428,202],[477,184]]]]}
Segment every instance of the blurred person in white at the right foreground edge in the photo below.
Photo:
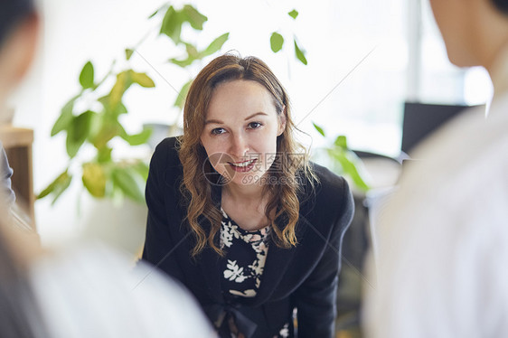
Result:
{"type": "MultiPolygon", "coordinates": [[[[380,226],[369,337],[508,337],[508,0],[430,0],[460,67],[494,84],[414,158],[380,226]]],[[[372,270],[371,270],[372,272],[372,270]]],[[[371,274],[371,281],[374,280],[371,274]]]]}

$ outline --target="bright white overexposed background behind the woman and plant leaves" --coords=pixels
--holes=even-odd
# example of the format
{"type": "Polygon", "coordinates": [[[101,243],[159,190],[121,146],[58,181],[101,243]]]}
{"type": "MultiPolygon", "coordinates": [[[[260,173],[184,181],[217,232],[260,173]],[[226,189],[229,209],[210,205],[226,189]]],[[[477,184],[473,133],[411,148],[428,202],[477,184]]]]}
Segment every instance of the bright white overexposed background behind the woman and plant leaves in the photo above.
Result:
{"type": "MultiPolygon", "coordinates": [[[[199,35],[183,31],[198,45],[205,47],[216,36],[230,32],[223,52],[256,55],[268,63],[292,97],[298,127],[308,134],[302,142],[313,148],[342,134],[354,149],[397,156],[406,101],[476,105],[491,95],[484,70],[459,70],[447,61],[426,0],[171,3],[191,3],[208,16],[199,35]],[[287,15],[293,9],[299,12],[296,20],[287,15]],[[271,52],[272,32],[287,38],[282,52],[271,52]],[[306,66],[294,57],[289,40],[293,35],[306,50],[306,66]],[[312,122],[325,128],[328,140],[315,132],[312,122]]],[[[64,135],[50,137],[50,131],[61,107],[80,90],[78,77],[85,62],[93,61],[97,76],[104,76],[126,47],[148,33],[132,66],[146,71],[156,88],[131,89],[125,122],[132,132],[144,123],[174,122],[178,115],[172,107],[174,89],[190,74],[166,62],[178,51],[167,37],[157,37],[156,23],[147,20],[163,4],[155,0],[39,3],[43,19],[39,57],[11,100],[14,124],[34,130],[36,192],[66,164],[64,135]]],[[[195,74],[204,63],[193,65],[191,72],[195,74]]],[[[133,155],[132,149],[122,146],[118,142],[114,155],[133,155]]],[[[141,146],[136,152],[145,156],[150,149],[141,146]]],[[[86,149],[81,155],[87,156],[86,149]]],[[[72,184],[65,198],[54,205],[51,200],[36,202],[36,221],[44,242],[58,243],[84,226],[90,198],[80,191],[79,182],[72,184]]]]}

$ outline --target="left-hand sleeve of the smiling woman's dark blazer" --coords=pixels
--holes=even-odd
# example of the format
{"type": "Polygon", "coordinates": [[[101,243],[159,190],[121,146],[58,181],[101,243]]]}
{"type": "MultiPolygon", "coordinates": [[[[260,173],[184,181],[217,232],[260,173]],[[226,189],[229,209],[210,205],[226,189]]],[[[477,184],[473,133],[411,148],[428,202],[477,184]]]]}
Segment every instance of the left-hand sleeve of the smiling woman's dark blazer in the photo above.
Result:
{"type": "Polygon", "coordinates": [[[178,153],[174,148],[175,139],[166,138],[155,148],[150,161],[150,170],[146,181],[146,239],[143,249],[143,260],[162,269],[172,277],[183,280],[183,271],[176,259],[177,246],[183,239],[175,239],[170,227],[179,227],[180,220],[176,216],[178,195],[177,177],[174,177],[180,165],[178,153]],[[177,224],[176,224],[177,223],[177,224]]]}

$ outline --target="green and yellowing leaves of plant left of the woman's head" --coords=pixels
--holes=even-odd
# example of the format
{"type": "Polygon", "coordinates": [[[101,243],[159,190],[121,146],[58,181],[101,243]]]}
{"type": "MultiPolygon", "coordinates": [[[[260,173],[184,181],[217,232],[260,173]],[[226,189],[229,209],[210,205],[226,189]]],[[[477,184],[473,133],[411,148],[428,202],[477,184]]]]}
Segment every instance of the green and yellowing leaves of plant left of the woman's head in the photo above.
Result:
{"type": "MultiPolygon", "coordinates": [[[[169,62],[180,68],[189,67],[194,61],[219,52],[229,38],[229,33],[224,33],[201,51],[192,42],[185,41],[181,36],[184,25],[200,32],[203,23],[208,20],[193,5],[183,5],[177,9],[166,4],[150,15],[149,19],[159,19],[160,34],[168,37],[182,52],[179,57],[169,59],[169,62]]],[[[148,173],[146,158],[115,158],[112,143],[121,139],[127,146],[145,145],[152,133],[150,127],[143,127],[138,133],[129,134],[121,122],[121,117],[128,114],[123,103],[128,89],[132,86],[146,89],[155,87],[154,80],[146,73],[128,67],[129,61],[136,55],[136,48],[146,41],[147,36],[138,42],[136,47],[126,49],[125,60],[121,63],[127,67],[118,69],[116,64],[119,62],[113,62],[111,69],[102,79],[97,79],[91,61],[84,65],[79,77],[80,92],[61,108],[61,114],[52,127],[52,136],[66,133],[68,164],[61,174],[38,194],[38,199],[52,197],[52,203],[56,202],[68,189],[71,181],[80,177],[84,189],[93,197],[113,199],[117,202],[127,197],[134,202],[145,202],[144,187],[148,173]],[[115,80],[110,81],[111,79],[115,80]],[[88,151],[87,157],[82,157],[80,151],[85,147],[92,151],[88,151]],[[90,153],[93,155],[90,156],[90,153]]],[[[174,106],[183,108],[184,97],[190,84],[191,81],[188,81],[183,85],[174,100],[174,106]]],[[[178,117],[174,117],[173,127],[176,127],[177,120],[178,117]]]]}

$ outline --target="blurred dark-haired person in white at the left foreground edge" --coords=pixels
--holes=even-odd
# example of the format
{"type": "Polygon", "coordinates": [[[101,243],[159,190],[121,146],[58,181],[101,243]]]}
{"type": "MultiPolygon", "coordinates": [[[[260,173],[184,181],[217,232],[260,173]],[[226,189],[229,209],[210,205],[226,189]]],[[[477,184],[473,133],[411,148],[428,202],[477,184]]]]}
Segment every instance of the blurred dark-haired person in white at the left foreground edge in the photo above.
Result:
{"type": "MultiPolygon", "coordinates": [[[[0,107],[32,61],[38,30],[31,1],[0,3],[0,107]]],[[[146,265],[131,271],[129,258],[99,244],[42,252],[12,226],[5,190],[11,192],[0,191],[0,337],[213,336],[183,287],[146,265]]]]}

